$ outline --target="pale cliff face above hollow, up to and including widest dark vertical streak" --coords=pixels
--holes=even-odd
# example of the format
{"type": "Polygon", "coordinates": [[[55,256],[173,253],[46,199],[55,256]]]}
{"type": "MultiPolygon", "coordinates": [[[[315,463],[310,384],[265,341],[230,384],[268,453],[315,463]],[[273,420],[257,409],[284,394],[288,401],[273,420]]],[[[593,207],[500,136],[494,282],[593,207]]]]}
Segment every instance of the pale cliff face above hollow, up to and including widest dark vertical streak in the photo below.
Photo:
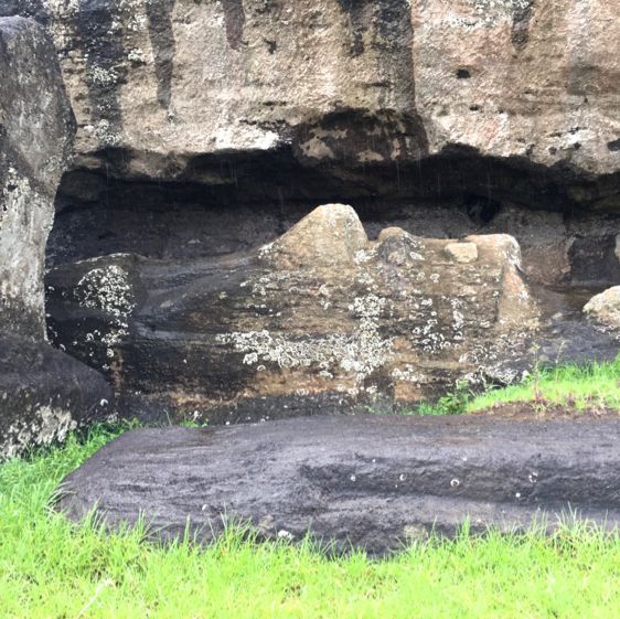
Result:
{"type": "Polygon", "coordinates": [[[406,0],[22,0],[6,11],[52,32],[85,167],[122,149],[124,174],[228,184],[228,170],[193,159],[290,145],[309,164],[366,163],[425,146],[406,0]]]}

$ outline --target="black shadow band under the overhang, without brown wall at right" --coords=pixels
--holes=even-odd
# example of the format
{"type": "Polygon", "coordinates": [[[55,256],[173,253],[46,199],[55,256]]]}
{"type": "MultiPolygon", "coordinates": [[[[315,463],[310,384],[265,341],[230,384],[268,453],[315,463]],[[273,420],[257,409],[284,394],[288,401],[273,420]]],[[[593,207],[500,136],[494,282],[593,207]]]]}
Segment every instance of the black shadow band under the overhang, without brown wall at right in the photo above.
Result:
{"type": "MultiPolygon", "coordinates": [[[[331,118],[331,126],[340,120],[331,118]]],[[[474,224],[468,232],[490,224],[505,205],[569,220],[614,220],[613,206],[620,203],[619,174],[591,178],[568,167],[482,157],[462,147],[418,160],[361,163],[340,152],[338,143],[330,146],[339,160],[311,161],[288,146],[162,160],[162,177],[180,170],[168,181],[128,177],[132,153],[110,149],[105,153],[107,174],[65,174],[49,245],[51,264],[116,252],[178,258],[245,250],[330,202],[352,204],[371,227],[372,222],[389,224],[425,210],[462,213],[474,224]],[[207,178],[217,183],[206,184],[207,178]]]]}

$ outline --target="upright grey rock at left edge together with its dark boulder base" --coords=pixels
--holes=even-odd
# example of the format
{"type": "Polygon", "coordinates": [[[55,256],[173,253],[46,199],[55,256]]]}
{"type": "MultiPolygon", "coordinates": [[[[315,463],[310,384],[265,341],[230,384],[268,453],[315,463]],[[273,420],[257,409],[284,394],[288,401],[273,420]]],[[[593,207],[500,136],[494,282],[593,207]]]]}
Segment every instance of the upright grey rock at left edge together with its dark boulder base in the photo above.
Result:
{"type": "Polygon", "coordinates": [[[62,439],[107,410],[96,372],[45,341],[44,255],[75,130],[54,50],[0,19],[0,458],[62,439]]]}

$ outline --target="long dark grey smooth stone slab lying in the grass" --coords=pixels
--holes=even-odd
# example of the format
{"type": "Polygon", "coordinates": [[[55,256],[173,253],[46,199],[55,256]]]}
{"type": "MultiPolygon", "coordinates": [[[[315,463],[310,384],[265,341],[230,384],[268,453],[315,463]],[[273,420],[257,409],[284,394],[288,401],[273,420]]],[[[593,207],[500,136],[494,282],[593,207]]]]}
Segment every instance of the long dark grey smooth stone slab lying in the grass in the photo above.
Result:
{"type": "Polygon", "coordinates": [[[58,509],[96,505],[116,527],[142,513],[154,535],[201,538],[250,522],[268,537],[308,532],[336,547],[400,548],[527,527],[576,513],[620,524],[620,421],[328,417],[231,428],[135,430],[64,482],[58,509]],[[596,458],[592,455],[596,453],[596,458]]]}

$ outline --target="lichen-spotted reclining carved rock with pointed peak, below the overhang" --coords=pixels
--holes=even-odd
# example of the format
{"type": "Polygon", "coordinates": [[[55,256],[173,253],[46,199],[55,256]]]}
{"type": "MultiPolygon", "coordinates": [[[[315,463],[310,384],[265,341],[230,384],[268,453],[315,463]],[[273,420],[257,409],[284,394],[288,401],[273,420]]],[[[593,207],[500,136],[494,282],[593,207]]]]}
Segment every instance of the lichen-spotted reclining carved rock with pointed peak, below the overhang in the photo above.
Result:
{"type": "Polygon", "coordinates": [[[270,416],[282,398],[306,412],[407,405],[525,369],[537,309],[519,269],[507,235],[461,244],[388,228],[370,242],[353,209],[332,204],[246,256],[55,269],[51,335],[151,417],[213,421],[225,405],[270,416]]]}

